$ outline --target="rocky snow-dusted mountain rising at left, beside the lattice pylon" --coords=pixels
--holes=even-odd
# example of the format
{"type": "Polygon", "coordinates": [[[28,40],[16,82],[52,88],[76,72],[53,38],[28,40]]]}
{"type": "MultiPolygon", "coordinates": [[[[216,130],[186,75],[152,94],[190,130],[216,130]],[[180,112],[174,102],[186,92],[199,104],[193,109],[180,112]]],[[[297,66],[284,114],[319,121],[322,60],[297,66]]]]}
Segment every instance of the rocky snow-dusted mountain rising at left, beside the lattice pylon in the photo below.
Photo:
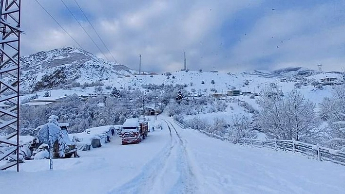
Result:
{"type": "Polygon", "coordinates": [[[66,83],[84,84],[114,79],[136,72],[74,47],[42,51],[23,56],[20,60],[20,87],[30,92],[66,83]]]}

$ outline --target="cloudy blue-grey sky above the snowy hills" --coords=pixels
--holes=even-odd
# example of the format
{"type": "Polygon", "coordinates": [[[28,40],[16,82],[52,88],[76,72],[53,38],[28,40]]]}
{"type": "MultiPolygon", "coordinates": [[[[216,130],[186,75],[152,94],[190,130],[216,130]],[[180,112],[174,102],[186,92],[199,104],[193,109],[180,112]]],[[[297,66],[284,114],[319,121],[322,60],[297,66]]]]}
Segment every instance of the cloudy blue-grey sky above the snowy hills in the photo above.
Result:
{"type": "MultiPolygon", "coordinates": [[[[83,49],[103,46],[75,0],[38,0],[83,49]]],[[[116,61],[143,71],[345,67],[345,0],[76,0],[116,61]]],[[[21,1],[21,54],[76,46],[35,0],[21,1]]]]}

